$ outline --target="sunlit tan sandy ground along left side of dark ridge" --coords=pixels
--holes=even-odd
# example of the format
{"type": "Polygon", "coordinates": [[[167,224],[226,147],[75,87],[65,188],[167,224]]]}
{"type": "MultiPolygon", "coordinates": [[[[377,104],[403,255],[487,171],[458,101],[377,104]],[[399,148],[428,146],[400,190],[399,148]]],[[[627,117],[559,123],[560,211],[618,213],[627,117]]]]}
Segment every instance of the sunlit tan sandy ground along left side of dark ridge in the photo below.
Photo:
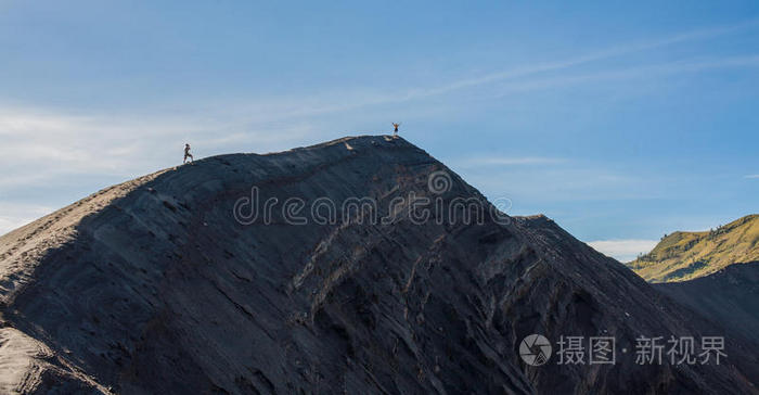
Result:
{"type": "MultiPolygon", "coordinates": [[[[76,241],[76,228],[82,218],[98,214],[114,200],[162,173],[106,188],[0,237],[0,306],[12,306],[15,295],[34,282],[35,270],[50,251],[76,241]]],[[[0,323],[10,324],[2,313],[0,323]]],[[[35,390],[107,392],[64,358],[57,358],[43,343],[16,329],[1,329],[0,393],[28,393],[35,390]]]]}

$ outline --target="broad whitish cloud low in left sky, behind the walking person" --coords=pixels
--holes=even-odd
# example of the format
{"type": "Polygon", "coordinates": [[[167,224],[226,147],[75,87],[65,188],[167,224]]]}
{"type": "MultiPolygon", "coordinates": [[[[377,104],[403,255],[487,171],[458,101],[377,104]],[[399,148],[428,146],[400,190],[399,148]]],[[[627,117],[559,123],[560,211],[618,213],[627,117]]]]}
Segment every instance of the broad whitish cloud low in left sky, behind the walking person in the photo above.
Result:
{"type": "Polygon", "coordinates": [[[200,156],[267,152],[303,138],[308,125],[267,125],[253,119],[76,115],[62,111],[0,107],[0,186],[35,184],[64,174],[134,176],[175,164],[184,142],[200,156]]]}

